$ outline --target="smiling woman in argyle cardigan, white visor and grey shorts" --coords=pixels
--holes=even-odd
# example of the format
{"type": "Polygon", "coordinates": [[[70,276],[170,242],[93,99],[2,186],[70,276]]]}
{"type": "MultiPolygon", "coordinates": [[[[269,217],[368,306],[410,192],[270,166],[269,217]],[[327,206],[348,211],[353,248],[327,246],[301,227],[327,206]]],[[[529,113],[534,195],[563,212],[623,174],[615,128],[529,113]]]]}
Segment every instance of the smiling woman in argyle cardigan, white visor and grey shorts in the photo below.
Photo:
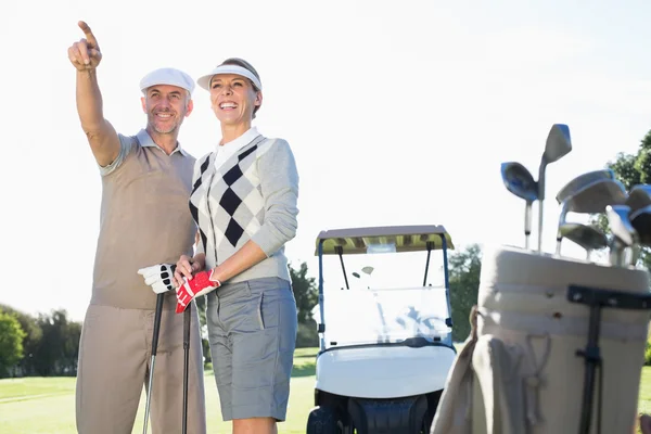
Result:
{"type": "Polygon", "coordinates": [[[228,59],[197,84],[210,92],[221,141],[195,164],[190,209],[201,241],[177,261],[177,298],[182,311],[207,294],[224,420],[235,434],[276,433],[297,329],[284,244],[296,233],[298,174],[288,142],[252,126],[263,87],[251,64],[228,59]]]}

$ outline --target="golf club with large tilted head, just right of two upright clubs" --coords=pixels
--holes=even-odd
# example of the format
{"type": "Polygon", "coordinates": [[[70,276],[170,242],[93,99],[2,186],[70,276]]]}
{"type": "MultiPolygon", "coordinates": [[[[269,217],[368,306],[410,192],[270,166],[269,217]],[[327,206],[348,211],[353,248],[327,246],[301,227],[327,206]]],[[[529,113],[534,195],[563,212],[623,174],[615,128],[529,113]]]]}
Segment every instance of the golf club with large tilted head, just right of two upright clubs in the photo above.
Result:
{"type": "MultiPolygon", "coordinates": [[[[577,177],[580,178],[580,177],[577,177]]],[[[560,227],[565,224],[567,213],[595,214],[603,213],[608,205],[617,205],[626,202],[626,189],[624,184],[616,179],[596,179],[589,182],[590,177],[586,177],[583,183],[575,179],[574,191],[566,189],[565,195],[557,195],[558,201],[562,201],[561,215],[559,217],[559,231],[557,232],[556,254],[561,254],[561,241],[563,239],[560,227]]]]}

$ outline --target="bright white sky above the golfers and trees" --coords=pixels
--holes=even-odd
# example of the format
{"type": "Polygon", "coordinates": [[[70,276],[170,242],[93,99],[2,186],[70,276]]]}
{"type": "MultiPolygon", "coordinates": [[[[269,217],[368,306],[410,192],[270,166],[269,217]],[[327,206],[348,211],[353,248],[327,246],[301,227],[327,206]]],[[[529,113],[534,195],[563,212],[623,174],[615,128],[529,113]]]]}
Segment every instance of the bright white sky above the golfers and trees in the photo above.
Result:
{"type": "MultiPolygon", "coordinates": [[[[193,77],[229,56],[261,76],[254,125],[288,140],[301,176],[297,265],[319,231],[443,225],[457,250],[523,246],[524,202],[500,163],[537,178],[552,124],[573,150],[547,168],[546,252],[556,193],[582,173],[634,153],[651,129],[651,3],[612,1],[73,1],[0,7],[4,94],[0,303],[81,320],[99,228],[99,171],[79,126],[67,48],[86,21],[103,53],[105,117],[145,125],[140,78],[174,66],[193,77]]],[[[200,157],[220,140],[208,94],[181,128],[200,157]]],[[[537,240],[537,204],[532,244],[537,240]]],[[[570,216],[585,221],[582,215],[570,216]]],[[[563,255],[585,257],[571,242],[563,255]]]]}

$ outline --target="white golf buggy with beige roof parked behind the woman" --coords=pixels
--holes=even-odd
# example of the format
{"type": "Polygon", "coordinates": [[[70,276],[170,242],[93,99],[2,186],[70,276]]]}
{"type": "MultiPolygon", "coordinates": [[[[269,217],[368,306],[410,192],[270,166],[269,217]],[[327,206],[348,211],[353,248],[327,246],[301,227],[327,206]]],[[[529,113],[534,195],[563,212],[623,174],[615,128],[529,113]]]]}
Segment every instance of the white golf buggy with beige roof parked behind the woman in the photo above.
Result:
{"type": "Polygon", "coordinates": [[[430,432],[456,357],[451,248],[443,226],[319,233],[319,304],[312,314],[320,349],[307,434],[430,432]],[[443,253],[443,264],[430,272],[432,251],[443,253]],[[439,284],[429,283],[432,275],[439,284]]]}

